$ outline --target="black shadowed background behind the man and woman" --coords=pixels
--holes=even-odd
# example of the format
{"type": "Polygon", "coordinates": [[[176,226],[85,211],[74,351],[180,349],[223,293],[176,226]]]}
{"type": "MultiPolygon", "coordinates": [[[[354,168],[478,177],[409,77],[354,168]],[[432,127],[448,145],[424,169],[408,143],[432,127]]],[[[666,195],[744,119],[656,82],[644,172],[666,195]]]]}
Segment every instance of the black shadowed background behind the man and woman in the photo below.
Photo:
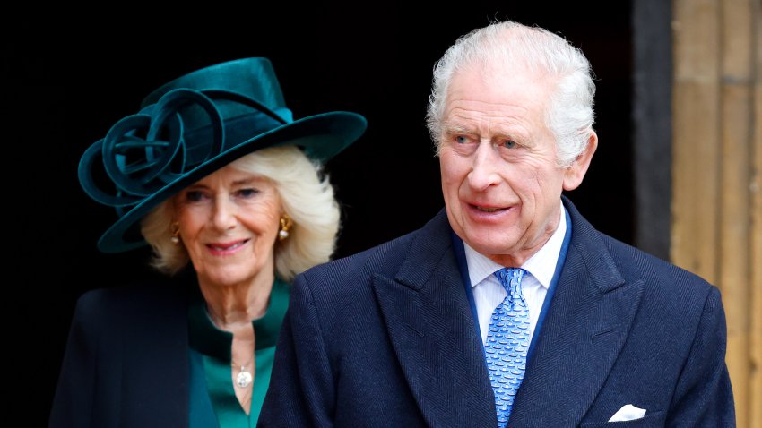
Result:
{"type": "MultiPolygon", "coordinates": [[[[4,285],[13,385],[44,425],[74,303],[82,292],[155,275],[147,249],[101,254],[117,218],[77,182],[83,150],[143,96],[205,65],[245,56],[273,61],[296,118],[350,110],[368,131],[327,165],[343,203],[337,256],[422,226],[443,206],[424,124],[431,68],[455,39],[490,20],[537,24],[569,39],[596,74],[599,149],[568,195],[594,226],[633,240],[631,30],[626,1],[491,2],[411,13],[404,7],[220,7],[193,18],[19,16],[4,36],[4,183],[12,272],[4,285]]],[[[6,257],[7,259],[7,257],[6,257]]]]}

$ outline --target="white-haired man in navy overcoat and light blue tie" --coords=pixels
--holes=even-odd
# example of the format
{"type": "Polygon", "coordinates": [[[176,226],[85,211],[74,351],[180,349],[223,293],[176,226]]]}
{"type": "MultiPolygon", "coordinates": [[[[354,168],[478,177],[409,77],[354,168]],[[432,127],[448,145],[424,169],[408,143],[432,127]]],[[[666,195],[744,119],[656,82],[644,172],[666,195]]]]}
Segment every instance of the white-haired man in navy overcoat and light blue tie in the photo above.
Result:
{"type": "Polygon", "coordinates": [[[735,424],[718,289],[561,194],[598,144],[594,90],[539,28],[447,50],[428,114],[445,210],[297,279],[260,426],[735,424]]]}

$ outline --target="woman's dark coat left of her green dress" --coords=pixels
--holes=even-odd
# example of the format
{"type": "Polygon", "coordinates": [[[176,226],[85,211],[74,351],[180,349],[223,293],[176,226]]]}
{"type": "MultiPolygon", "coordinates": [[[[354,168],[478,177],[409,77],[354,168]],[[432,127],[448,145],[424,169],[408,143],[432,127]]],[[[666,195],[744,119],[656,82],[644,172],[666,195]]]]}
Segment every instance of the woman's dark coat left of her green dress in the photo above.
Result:
{"type": "Polygon", "coordinates": [[[187,281],[82,295],[74,311],[52,427],[187,427],[187,281]]]}

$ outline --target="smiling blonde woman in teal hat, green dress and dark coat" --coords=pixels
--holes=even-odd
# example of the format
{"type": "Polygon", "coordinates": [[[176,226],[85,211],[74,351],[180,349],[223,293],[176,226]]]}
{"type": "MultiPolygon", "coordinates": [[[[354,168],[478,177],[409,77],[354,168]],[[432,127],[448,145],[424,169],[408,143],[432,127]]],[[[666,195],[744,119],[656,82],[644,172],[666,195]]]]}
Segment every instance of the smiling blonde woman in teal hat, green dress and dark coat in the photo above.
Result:
{"type": "Polygon", "coordinates": [[[50,426],[255,426],[290,280],[328,261],[325,161],[362,116],[294,121],[270,62],[186,74],[86,150],[82,188],[117,207],[102,252],[151,244],[166,283],[82,295],[50,426]]]}

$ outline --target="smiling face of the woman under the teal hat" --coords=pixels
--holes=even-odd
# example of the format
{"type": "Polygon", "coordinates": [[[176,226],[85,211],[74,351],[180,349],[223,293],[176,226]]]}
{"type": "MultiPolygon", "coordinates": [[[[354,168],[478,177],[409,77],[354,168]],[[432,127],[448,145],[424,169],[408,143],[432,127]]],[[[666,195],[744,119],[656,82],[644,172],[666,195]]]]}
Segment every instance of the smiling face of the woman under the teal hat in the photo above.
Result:
{"type": "Polygon", "coordinates": [[[186,187],[174,204],[199,283],[226,287],[272,280],[283,211],[270,180],[227,166],[186,187]]]}

